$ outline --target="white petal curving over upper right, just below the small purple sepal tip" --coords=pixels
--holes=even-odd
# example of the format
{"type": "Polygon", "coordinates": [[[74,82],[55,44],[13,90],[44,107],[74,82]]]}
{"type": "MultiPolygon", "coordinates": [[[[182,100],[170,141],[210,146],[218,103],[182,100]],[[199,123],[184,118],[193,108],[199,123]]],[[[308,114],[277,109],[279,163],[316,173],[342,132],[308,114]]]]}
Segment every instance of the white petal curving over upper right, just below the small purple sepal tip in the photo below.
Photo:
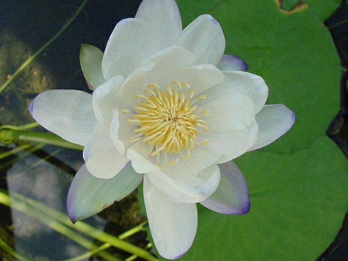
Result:
{"type": "Polygon", "coordinates": [[[255,74],[240,71],[224,72],[225,81],[208,89],[204,94],[206,101],[215,99],[228,93],[243,93],[254,103],[255,113],[265,105],[268,96],[268,87],[265,81],[255,74]]]}

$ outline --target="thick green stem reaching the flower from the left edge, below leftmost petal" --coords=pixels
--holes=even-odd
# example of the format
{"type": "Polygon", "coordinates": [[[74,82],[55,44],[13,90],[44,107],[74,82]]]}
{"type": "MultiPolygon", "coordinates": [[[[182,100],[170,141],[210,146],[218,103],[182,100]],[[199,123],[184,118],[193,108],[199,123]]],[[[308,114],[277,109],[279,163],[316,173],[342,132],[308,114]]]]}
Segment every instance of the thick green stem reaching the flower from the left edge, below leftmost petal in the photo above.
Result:
{"type": "Polygon", "coordinates": [[[21,129],[10,128],[9,126],[0,127],[0,142],[10,144],[15,141],[26,141],[34,143],[45,143],[68,149],[83,150],[83,147],[68,142],[53,133],[43,133],[35,131],[23,131],[21,129]]]}

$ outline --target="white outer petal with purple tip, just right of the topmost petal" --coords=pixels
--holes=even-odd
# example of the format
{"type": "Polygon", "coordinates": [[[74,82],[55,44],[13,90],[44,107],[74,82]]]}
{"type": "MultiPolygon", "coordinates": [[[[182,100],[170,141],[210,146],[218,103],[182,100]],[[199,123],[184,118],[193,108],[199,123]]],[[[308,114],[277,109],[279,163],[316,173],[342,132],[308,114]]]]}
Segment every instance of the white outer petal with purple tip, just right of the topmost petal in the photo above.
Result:
{"type": "Polygon", "coordinates": [[[195,64],[219,62],[225,51],[224,32],[211,15],[201,15],[178,36],[175,44],[186,48],[195,57],[195,64]]]}

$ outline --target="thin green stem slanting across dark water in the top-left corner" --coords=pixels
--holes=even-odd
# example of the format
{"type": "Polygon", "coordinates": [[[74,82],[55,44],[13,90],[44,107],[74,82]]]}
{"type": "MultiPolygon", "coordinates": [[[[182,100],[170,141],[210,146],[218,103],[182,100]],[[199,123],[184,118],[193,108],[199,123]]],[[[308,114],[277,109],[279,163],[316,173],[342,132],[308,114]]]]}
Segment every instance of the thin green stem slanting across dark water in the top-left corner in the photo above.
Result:
{"type": "Polygon", "coordinates": [[[66,23],[64,24],[60,30],[47,42],[45,43],[39,50],[36,51],[33,55],[31,55],[26,61],[24,61],[21,66],[12,74],[12,76],[7,79],[7,81],[0,87],[0,93],[13,81],[16,76],[23,71],[23,69],[31,62],[33,61],[43,50],[45,50],[50,44],[52,44],[68,27],[69,25],[75,20],[75,18],[78,16],[78,14],[82,11],[83,7],[86,5],[88,0],[84,0],[81,4],[81,6],[77,9],[74,16],[66,23]]]}

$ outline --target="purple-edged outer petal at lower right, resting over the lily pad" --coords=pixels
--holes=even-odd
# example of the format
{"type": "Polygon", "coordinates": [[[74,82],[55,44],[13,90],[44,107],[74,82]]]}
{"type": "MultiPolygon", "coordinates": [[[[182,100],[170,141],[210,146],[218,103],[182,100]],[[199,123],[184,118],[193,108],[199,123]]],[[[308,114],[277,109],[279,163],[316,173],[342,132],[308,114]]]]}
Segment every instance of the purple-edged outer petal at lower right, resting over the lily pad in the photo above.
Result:
{"type": "Polygon", "coordinates": [[[248,187],[237,165],[231,160],[219,164],[220,184],[203,206],[222,214],[245,214],[250,209],[248,187]]]}

